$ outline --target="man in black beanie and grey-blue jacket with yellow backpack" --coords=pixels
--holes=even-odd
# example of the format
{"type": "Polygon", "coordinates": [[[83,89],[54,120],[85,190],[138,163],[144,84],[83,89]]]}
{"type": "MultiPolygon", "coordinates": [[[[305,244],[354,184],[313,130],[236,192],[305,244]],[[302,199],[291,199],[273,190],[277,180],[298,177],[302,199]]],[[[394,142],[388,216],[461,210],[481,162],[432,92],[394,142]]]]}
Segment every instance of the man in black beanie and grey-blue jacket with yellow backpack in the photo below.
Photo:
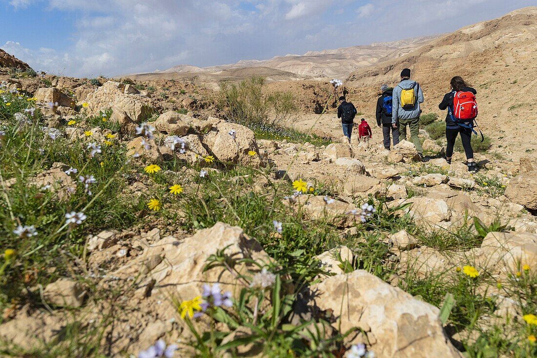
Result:
{"type": "Polygon", "coordinates": [[[419,159],[423,161],[423,148],[419,142],[419,116],[422,110],[423,92],[419,83],[410,80],[410,69],[401,71],[401,82],[394,88],[392,95],[391,125],[399,127],[400,139],[407,139],[407,126],[410,127],[410,137],[416,146],[419,159]],[[397,125],[398,123],[398,125],[397,125]]]}

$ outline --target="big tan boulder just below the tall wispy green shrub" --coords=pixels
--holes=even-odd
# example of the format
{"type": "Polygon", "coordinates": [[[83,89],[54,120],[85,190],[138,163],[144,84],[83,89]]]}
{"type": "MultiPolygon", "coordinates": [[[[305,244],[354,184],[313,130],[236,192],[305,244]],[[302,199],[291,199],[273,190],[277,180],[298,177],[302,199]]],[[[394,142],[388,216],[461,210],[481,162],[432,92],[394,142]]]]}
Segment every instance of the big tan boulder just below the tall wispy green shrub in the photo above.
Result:
{"type": "Polygon", "coordinates": [[[223,163],[242,164],[244,166],[259,167],[263,162],[259,157],[259,148],[253,132],[240,124],[219,123],[216,126],[218,133],[212,147],[213,154],[223,163]],[[229,134],[235,131],[235,139],[229,134]],[[249,152],[256,155],[249,155],[249,152]]]}

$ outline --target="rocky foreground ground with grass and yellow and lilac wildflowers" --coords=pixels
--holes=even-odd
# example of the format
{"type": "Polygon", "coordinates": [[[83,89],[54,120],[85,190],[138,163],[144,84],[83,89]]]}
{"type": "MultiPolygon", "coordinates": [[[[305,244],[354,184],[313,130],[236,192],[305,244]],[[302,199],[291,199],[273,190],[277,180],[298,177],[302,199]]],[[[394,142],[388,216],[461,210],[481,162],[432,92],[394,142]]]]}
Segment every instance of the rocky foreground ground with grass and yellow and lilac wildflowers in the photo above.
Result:
{"type": "Polygon", "coordinates": [[[4,81],[2,355],[537,354],[531,157],[259,139],[204,91],[4,81]]]}

